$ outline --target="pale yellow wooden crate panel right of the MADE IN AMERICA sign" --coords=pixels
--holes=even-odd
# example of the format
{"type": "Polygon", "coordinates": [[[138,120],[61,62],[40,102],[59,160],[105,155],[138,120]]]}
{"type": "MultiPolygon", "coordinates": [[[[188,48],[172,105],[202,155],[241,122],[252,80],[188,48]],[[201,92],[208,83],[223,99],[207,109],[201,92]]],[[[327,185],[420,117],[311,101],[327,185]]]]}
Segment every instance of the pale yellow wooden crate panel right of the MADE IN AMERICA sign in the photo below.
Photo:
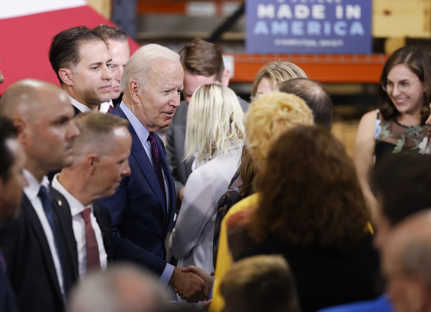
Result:
{"type": "Polygon", "coordinates": [[[431,36],[431,0],[373,0],[373,37],[431,36]]]}

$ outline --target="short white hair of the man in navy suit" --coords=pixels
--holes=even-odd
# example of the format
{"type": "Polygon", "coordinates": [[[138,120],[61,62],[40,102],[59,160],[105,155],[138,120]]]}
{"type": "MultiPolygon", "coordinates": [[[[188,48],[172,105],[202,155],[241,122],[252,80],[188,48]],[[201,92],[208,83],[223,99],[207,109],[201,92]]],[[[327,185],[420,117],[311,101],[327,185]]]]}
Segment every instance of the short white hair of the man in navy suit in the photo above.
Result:
{"type": "Polygon", "coordinates": [[[136,80],[140,87],[145,88],[150,80],[148,72],[156,60],[181,62],[180,55],[175,51],[159,44],[146,44],[137,49],[126,63],[120,81],[121,91],[127,89],[131,80],[136,80]]]}

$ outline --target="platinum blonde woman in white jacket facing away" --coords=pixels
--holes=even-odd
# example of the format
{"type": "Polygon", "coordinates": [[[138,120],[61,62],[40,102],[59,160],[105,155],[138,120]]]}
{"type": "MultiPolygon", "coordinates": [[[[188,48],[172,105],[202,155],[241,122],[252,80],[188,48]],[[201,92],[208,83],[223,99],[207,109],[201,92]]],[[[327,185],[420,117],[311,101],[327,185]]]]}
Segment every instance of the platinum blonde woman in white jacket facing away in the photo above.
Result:
{"type": "Polygon", "coordinates": [[[187,112],[184,158],[195,156],[169,246],[178,267],[212,264],[217,201],[237,170],[244,139],[244,112],[228,87],[206,84],[193,94],[187,112]]]}

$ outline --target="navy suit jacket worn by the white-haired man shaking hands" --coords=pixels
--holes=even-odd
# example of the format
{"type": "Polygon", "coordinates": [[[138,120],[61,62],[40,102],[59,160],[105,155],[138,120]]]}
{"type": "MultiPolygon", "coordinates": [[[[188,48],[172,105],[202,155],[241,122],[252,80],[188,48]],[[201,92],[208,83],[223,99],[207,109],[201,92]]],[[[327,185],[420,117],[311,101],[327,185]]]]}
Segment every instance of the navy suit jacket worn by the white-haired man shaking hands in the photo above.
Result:
{"type": "MultiPolygon", "coordinates": [[[[119,105],[112,114],[127,119],[119,105]]],[[[161,275],[166,267],[166,236],[175,213],[174,182],[166,161],[165,145],[156,134],[160,162],[168,184],[169,209],[166,209],[153,165],[131,124],[128,129],[132,137],[128,159],[131,175],[122,179],[111,197],[99,201],[108,207],[112,216],[115,258],[137,262],[161,275]]]]}

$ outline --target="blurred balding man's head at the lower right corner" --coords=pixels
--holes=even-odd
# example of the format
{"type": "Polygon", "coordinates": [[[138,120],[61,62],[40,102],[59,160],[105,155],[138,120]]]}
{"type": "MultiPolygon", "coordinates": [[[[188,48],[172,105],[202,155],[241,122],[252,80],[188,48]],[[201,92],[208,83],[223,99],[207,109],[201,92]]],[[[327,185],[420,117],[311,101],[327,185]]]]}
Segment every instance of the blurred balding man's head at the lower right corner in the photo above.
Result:
{"type": "Polygon", "coordinates": [[[431,210],[401,222],[383,249],[386,290],[397,312],[431,311],[431,210]]]}

